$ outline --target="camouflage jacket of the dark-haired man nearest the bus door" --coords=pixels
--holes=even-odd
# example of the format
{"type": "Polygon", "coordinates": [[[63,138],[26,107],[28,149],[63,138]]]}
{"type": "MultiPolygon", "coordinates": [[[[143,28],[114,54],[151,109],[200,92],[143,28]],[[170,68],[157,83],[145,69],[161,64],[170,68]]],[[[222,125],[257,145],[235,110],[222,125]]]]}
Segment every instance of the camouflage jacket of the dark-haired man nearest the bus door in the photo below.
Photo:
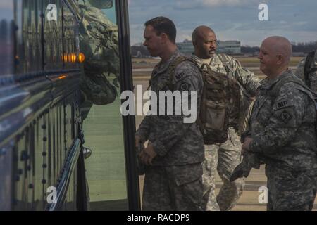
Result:
{"type": "MultiPolygon", "coordinates": [[[[175,58],[181,56],[176,50],[166,62],[156,65],[151,75],[151,91],[159,99],[159,91],[168,91],[168,68],[175,58]]],[[[184,61],[175,68],[172,91],[197,91],[197,116],[199,116],[202,78],[194,63],[184,61]]],[[[190,99],[189,99],[190,101],[190,99]]],[[[189,103],[190,105],[190,103],[189,103]]],[[[159,106],[158,106],[159,109],[159,106]]],[[[147,115],[139,125],[137,134],[142,142],[149,140],[158,154],[153,165],[185,165],[204,160],[204,141],[196,122],[184,123],[184,115],[147,115]]]]}

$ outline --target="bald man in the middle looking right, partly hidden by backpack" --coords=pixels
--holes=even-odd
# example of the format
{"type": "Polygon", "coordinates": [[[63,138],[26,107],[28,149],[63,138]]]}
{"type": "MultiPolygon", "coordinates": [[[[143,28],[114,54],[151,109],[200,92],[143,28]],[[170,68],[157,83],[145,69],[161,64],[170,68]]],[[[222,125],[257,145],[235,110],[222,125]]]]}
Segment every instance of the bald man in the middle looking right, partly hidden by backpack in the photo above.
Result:
{"type": "MultiPolygon", "coordinates": [[[[230,105],[228,139],[223,143],[205,145],[204,175],[204,205],[209,211],[230,210],[242,195],[243,179],[230,182],[232,170],[241,162],[240,135],[247,124],[251,101],[253,100],[259,80],[254,73],[242,68],[240,63],[231,56],[216,54],[216,34],[210,27],[199,26],[192,34],[194,55],[192,59],[207,70],[219,72],[230,79],[233,88],[229,89],[230,99],[225,105],[230,105]],[[223,180],[223,186],[216,197],[216,171],[223,180]]],[[[206,143],[206,141],[205,141],[206,143]]]]}

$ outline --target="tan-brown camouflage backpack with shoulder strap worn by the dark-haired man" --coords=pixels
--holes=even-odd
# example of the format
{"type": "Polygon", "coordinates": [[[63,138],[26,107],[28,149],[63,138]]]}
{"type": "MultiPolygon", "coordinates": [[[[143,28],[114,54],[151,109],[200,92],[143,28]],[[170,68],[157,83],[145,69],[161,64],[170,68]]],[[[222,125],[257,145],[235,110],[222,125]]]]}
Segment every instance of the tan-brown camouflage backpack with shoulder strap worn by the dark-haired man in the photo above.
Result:
{"type": "MultiPolygon", "coordinates": [[[[180,56],[168,68],[168,87],[173,91],[175,68],[184,61],[197,65],[192,58],[180,56]]],[[[232,105],[240,102],[240,89],[236,79],[220,72],[211,70],[209,65],[197,65],[201,72],[204,88],[197,124],[204,136],[205,144],[223,143],[228,139],[229,117],[232,105]],[[233,103],[232,103],[233,99],[233,103]]]]}

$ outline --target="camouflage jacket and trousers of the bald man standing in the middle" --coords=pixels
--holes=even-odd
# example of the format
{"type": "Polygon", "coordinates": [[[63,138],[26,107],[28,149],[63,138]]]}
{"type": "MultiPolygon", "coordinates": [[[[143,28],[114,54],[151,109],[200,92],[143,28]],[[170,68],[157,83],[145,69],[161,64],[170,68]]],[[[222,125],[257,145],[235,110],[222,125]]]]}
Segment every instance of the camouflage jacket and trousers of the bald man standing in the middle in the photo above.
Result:
{"type": "MultiPolygon", "coordinates": [[[[192,56],[199,66],[202,61],[197,56],[192,56]]],[[[204,204],[206,210],[230,210],[235,206],[237,200],[242,195],[244,179],[237,179],[230,182],[230,175],[237,165],[241,162],[241,143],[239,134],[244,131],[248,114],[251,107],[250,97],[254,97],[259,86],[259,80],[254,73],[242,68],[240,63],[227,55],[216,54],[209,64],[211,70],[228,74],[228,69],[235,77],[237,82],[243,86],[240,89],[240,103],[235,105],[230,112],[230,128],[228,129],[228,140],[225,143],[205,145],[205,161],[203,163],[204,176],[204,204]],[[249,96],[244,94],[247,92],[249,96]],[[223,186],[216,198],[216,169],[223,186]]]]}

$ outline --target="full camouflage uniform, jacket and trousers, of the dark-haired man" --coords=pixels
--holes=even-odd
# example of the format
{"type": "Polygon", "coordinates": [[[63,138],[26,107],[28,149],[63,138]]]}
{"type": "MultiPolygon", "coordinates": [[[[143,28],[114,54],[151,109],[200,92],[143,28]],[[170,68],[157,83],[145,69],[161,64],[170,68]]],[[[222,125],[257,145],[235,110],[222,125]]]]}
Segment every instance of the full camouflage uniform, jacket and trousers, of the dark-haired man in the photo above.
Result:
{"type": "MultiPolygon", "coordinates": [[[[150,84],[158,96],[159,91],[169,90],[168,68],[178,56],[176,50],[166,63],[161,61],[154,68],[150,84]]],[[[197,91],[197,112],[202,85],[194,63],[185,61],[175,68],[171,91],[197,91]]],[[[198,125],[183,119],[182,115],[147,115],[139,125],[142,142],[149,140],[158,154],[145,169],[142,210],[201,210],[204,141],[198,125]]]]}

